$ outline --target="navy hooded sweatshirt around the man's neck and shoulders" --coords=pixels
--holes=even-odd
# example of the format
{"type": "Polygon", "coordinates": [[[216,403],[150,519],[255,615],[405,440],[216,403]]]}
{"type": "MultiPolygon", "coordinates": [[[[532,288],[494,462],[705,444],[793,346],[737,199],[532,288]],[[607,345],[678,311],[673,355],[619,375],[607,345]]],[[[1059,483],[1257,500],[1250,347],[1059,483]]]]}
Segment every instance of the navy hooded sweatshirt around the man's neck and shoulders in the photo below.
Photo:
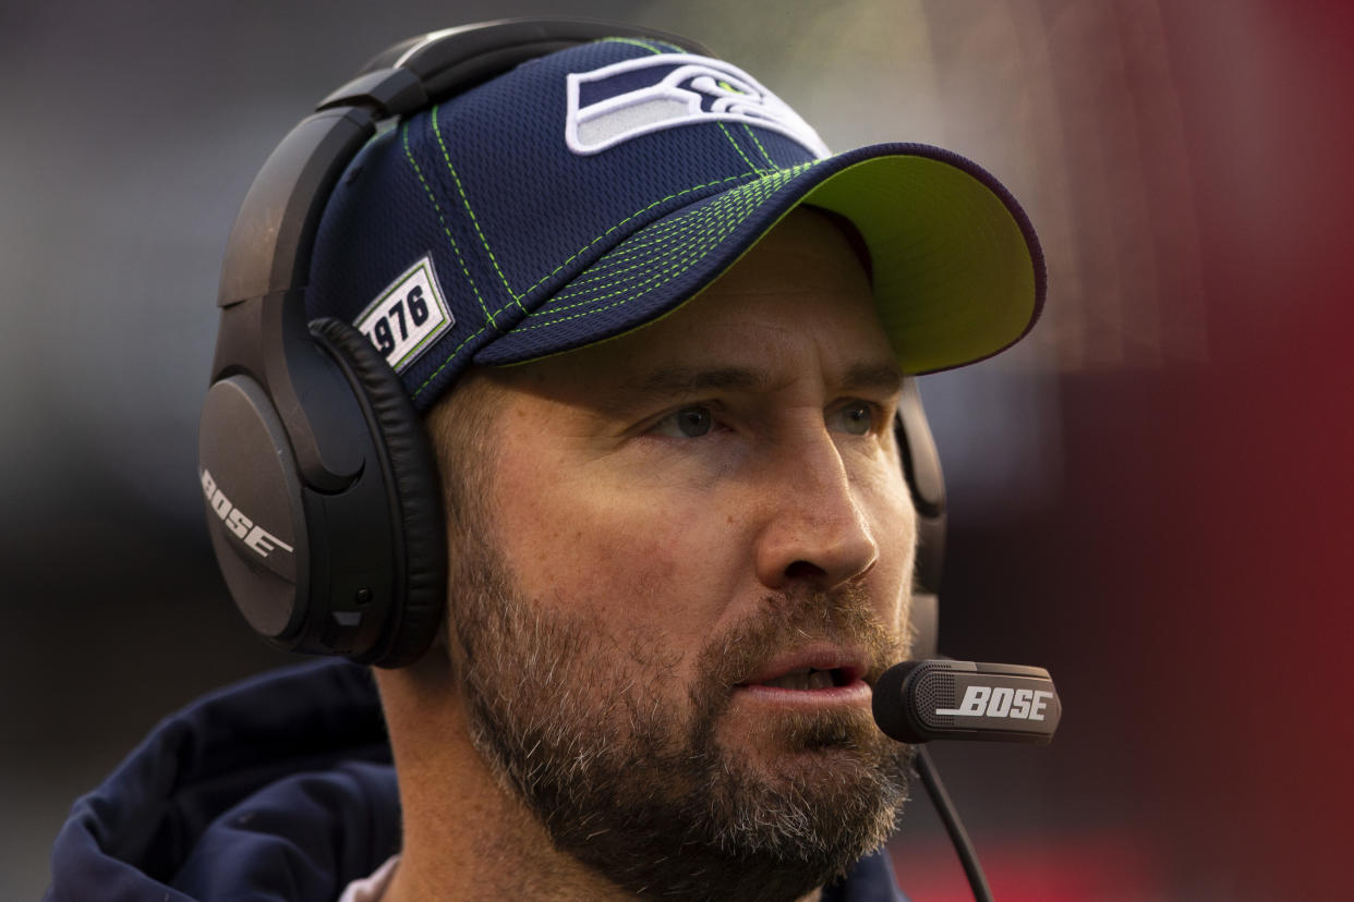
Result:
{"type": "MultiPolygon", "coordinates": [[[[47,902],[334,902],[399,849],[399,798],[366,668],[265,673],[162,721],[70,811],[47,902]]],[[[903,899],[887,857],[825,902],[903,899]]]]}

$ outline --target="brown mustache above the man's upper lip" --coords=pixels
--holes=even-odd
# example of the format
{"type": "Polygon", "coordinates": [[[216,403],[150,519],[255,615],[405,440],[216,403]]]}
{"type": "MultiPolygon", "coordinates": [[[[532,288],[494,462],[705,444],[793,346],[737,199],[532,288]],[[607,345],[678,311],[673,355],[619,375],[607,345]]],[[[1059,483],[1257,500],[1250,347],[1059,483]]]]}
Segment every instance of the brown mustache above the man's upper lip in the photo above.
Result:
{"type": "Polygon", "coordinates": [[[869,684],[903,660],[909,644],[903,623],[891,629],[880,622],[869,592],[860,586],[768,595],[754,614],[701,652],[699,684],[708,691],[746,683],[774,655],[819,641],[861,649],[869,684]]]}

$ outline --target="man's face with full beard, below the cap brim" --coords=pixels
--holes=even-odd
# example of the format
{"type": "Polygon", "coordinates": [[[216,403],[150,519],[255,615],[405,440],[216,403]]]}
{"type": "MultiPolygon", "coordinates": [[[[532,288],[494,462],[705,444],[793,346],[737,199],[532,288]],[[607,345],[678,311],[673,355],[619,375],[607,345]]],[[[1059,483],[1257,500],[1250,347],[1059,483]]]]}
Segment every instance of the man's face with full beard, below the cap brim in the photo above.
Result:
{"type": "Polygon", "coordinates": [[[800,894],[891,828],[904,748],[868,686],[907,650],[894,361],[802,210],[665,319],[482,373],[450,598],[473,734],[620,886],[800,894]]]}

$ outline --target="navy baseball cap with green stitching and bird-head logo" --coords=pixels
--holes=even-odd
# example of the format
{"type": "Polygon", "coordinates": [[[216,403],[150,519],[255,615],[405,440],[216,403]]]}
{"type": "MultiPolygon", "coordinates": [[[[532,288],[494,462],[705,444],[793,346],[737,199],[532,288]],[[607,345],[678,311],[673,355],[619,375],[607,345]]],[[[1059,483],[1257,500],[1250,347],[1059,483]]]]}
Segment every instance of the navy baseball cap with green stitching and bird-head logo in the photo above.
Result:
{"type": "Polygon", "coordinates": [[[986,170],[914,143],[833,156],[737,66],[635,38],[531,60],[374,138],[325,208],[306,312],[353,323],[425,411],[470,364],[670,312],[798,204],[860,230],[907,373],[995,354],[1039,316],[1039,241],[986,170]]]}

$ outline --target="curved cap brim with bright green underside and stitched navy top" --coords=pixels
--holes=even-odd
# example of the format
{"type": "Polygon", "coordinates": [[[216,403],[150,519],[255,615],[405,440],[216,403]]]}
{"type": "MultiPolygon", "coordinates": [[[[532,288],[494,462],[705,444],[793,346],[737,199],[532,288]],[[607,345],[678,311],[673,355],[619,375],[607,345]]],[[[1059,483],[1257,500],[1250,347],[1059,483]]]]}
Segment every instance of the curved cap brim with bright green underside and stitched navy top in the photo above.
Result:
{"type": "Polygon", "coordinates": [[[645,326],[695,298],[802,203],[860,230],[880,319],[907,373],[990,357],[1039,318],[1044,258],[1010,192],[948,150],[875,145],[770,170],[647,224],[475,362],[523,362],[645,326]]]}

